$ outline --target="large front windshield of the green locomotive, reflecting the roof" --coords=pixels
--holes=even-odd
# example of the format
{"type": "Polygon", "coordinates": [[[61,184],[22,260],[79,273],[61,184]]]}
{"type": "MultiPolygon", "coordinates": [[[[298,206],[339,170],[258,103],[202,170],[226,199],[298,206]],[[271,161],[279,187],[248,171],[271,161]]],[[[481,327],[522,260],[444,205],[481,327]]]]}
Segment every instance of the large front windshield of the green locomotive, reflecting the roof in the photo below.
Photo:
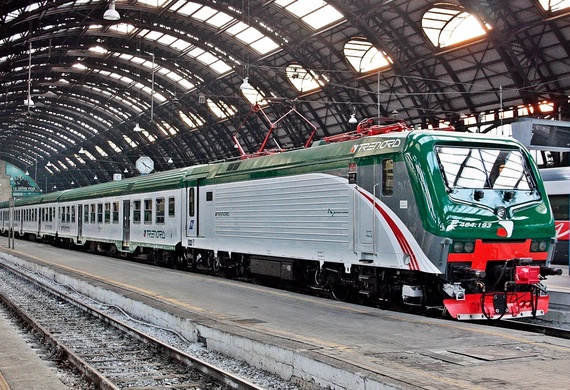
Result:
{"type": "Polygon", "coordinates": [[[535,187],[520,150],[440,146],[436,153],[449,190],[530,190],[535,187]]]}

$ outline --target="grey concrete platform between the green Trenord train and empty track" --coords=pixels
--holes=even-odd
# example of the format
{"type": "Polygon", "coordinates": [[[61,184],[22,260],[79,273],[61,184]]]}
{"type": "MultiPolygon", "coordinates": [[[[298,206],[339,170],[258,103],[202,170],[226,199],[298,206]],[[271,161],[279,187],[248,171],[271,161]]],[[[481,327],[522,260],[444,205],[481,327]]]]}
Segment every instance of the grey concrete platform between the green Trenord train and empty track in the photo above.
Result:
{"type": "MultiPolygon", "coordinates": [[[[384,311],[33,242],[16,241],[16,250],[0,247],[2,258],[120,305],[143,321],[174,327],[209,350],[315,388],[553,390],[567,389],[570,380],[570,340],[384,311]]],[[[567,269],[549,277],[547,285],[570,288],[567,269]]],[[[0,370],[5,359],[0,354],[0,370]]]]}

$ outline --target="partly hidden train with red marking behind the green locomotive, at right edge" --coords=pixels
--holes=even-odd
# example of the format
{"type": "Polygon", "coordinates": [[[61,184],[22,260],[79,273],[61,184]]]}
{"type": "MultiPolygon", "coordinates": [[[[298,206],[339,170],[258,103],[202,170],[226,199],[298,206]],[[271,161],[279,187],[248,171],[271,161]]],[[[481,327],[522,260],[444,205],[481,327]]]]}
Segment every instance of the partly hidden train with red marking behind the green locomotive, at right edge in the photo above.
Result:
{"type": "Polygon", "coordinates": [[[570,167],[540,170],[556,224],[556,251],[552,264],[569,264],[570,248],[570,167]]]}

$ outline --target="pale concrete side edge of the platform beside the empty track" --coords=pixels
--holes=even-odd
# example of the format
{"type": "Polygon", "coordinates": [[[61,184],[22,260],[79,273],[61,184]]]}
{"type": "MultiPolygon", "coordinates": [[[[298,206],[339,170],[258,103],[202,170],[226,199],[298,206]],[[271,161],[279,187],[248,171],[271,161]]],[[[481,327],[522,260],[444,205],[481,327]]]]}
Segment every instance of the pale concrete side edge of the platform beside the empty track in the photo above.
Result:
{"type": "MultiPolygon", "coordinates": [[[[363,367],[340,362],[333,357],[311,351],[311,346],[290,341],[286,348],[271,342],[271,337],[260,337],[255,332],[227,324],[211,321],[194,313],[180,311],[173,314],[166,311],[164,302],[156,300],[149,306],[136,297],[124,296],[113,291],[112,285],[101,286],[100,281],[80,280],[67,275],[65,270],[26,259],[25,255],[9,253],[3,248],[6,260],[32,270],[62,285],[70,286],[107,305],[120,307],[129,315],[141,321],[167,329],[176,329],[187,340],[196,342],[198,336],[205,340],[207,348],[271,372],[279,377],[310,389],[310,385],[331,390],[397,390],[411,389],[405,380],[390,378],[368,371],[363,367]]],[[[148,298],[148,297],[147,297],[148,298]]],[[[152,298],[151,298],[152,299],[152,298]]],[[[176,311],[176,310],[174,310],[176,311]]],[[[283,340],[281,340],[283,341],[283,340]]],[[[282,343],[283,344],[283,343],[282,343]]],[[[285,343],[287,344],[287,343],[285,343]]]]}

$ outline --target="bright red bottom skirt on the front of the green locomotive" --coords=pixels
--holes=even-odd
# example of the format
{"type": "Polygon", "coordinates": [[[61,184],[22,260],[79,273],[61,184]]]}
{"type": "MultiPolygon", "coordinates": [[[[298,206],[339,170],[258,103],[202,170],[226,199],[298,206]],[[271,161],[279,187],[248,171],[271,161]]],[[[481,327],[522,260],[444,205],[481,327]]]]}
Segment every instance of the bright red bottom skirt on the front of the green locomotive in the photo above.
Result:
{"type": "Polygon", "coordinates": [[[465,299],[445,299],[447,312],[458,320],[499,320],[543,316],[548,295],[539,291],[466,294],[465,299]]]}

